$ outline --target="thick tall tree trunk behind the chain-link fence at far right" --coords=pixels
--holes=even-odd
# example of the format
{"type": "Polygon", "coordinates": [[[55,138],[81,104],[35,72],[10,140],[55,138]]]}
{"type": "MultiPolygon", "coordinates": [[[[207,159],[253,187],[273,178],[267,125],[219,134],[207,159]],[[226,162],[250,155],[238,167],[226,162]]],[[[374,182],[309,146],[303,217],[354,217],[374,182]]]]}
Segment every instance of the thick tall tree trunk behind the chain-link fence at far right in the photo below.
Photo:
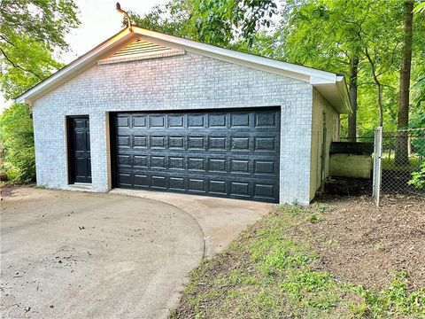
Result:
{"type": "MultiPolygon", "coordinates": [[[[398,98],[398,129],[406,129],[409,125],[409,93],[410,69],[412,66],[413,42],[413,0],[405,0],[404,40],[400,66],[400,91],[398,98]]],[[[396,165],[406,165],[409,161],[408,133],[399,131],[396,145],[396,165]]]]}

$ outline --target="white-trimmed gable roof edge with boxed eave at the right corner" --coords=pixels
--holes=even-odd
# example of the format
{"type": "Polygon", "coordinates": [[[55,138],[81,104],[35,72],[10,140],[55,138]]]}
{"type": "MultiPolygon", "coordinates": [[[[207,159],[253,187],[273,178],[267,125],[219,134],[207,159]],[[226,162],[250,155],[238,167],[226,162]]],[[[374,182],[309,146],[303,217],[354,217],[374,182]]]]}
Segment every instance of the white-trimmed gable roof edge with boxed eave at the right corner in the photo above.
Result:
{"type": "Polygon", "coordinates": [[[94,49],[85,53],[80,58],[73,60],[73,62],[61,68],[55,74],[50,75],[44,81],[28,89],[19,97],[16,97],[15,101],[18,103],[33,103],[37,98],[50,92],[50,90],[57,88],[90,66],[94,66],[98,60],[111,57],[113,53],[125,48],[128,43],[134,42],[137,39],[156,43],[158,46],[172,46],[176,50],[190,51],[310,83],[333,105],[337,112],[351,113],[352,111],[343,75],[333,74],[311,67],[298,66],[272,58],[259,57],[249,53],[228,50],[174,35],[161,34],[141,27],[132,27],[132,30],[129,30],[128,27],[122,29],[116,35],[112,35],[112,37],[100,43],[94,49]]]}

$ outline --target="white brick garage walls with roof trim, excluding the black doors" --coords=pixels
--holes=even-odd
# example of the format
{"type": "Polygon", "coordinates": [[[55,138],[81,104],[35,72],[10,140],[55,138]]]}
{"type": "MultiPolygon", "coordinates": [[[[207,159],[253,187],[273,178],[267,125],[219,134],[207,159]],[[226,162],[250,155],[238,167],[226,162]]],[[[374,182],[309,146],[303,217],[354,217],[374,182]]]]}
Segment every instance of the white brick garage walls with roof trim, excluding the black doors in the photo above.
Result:
{"type": "MultiPolygon", "coordinates": [[[[312,141],[320,142],[315,135],[322,130],[323,123],[314,120],[314,114],[321,118],[320,113],[327,113],[328,119],[337,119],[338,113],[349,112],[349,105],[344,78],[317,70],[305,74],[305,70],[312,69],[148,30],[125,29],[18,97],[18,101],[34,106],[37,183],[73,189],[69,182],[66,137],[66,118],[72,115],[89,116],[89,189],[109,191],[110,113],[278,106],[279,201],[308,204],[320,187],[317,170],[321,169],[318,157],[322,145],[312,147],[312,141]],[[144,52],[108,62],[114,52],[141,37],[174,51],[144,52]],[[323,79],[314,77],[314,72],[323,79]],[[333,82],[328,78],[333,78],[333,82]],[[313,96],[321,97],[314,98],[318,103],[313,103],[313,96]]],[[[327,132],[335,139],[339,123],[329,122],[327,132]]],[[[329,144],[330,138],[326,142],[329,144]]]]}

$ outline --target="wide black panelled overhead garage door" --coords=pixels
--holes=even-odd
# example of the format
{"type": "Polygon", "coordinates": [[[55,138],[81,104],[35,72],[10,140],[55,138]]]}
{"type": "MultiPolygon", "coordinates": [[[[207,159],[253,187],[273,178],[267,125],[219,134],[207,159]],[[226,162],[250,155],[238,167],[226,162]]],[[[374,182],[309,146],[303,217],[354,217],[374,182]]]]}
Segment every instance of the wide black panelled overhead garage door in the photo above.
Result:
{"type": "Polygon", "coordinates": [[[278,201],[278,108],[116,113],[112,125],[115,186],[278,201]]]}

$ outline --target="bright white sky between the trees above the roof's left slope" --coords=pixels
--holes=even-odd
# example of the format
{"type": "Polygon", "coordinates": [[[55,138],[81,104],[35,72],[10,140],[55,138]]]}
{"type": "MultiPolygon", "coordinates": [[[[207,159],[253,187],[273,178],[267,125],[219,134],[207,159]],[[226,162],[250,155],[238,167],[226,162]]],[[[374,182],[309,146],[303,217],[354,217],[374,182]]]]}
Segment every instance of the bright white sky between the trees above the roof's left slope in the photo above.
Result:
{"type": "MultiPolygon", "coordinates": [[[[151,11],[156,4],[166,4],[167,0],[120,0],[123,10],[138,14],[151,11]]],[[[59,60],[66,64],[104,42],[120,29],[122,15],[115,11],[116,0],[75,0],[80,8],[81,26],[66,35],[71,51],[63,53],[59,60]]],[[[12,101],[4,101],[0,92],[0,113],[12,101]]]]}

